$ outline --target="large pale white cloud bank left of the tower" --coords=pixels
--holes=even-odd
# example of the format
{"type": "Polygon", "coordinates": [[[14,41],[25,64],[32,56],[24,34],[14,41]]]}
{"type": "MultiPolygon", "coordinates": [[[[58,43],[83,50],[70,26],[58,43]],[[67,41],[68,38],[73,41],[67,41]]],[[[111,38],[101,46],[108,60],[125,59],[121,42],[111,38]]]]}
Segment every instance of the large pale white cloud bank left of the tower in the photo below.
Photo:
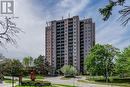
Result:
{"type": "Polygon", "coordinates": [[[18,47],[7,46],[7,50],[1,49],[0,52],[6,57],[23,58],[25,56],[37,57],[43,54],[44,49],[44,21],[39,19],[33,10],[34,6],[30,0],[15,0],[15,16],[17,26],[25,33],[21,33],[18,41],[18,47]]]}

